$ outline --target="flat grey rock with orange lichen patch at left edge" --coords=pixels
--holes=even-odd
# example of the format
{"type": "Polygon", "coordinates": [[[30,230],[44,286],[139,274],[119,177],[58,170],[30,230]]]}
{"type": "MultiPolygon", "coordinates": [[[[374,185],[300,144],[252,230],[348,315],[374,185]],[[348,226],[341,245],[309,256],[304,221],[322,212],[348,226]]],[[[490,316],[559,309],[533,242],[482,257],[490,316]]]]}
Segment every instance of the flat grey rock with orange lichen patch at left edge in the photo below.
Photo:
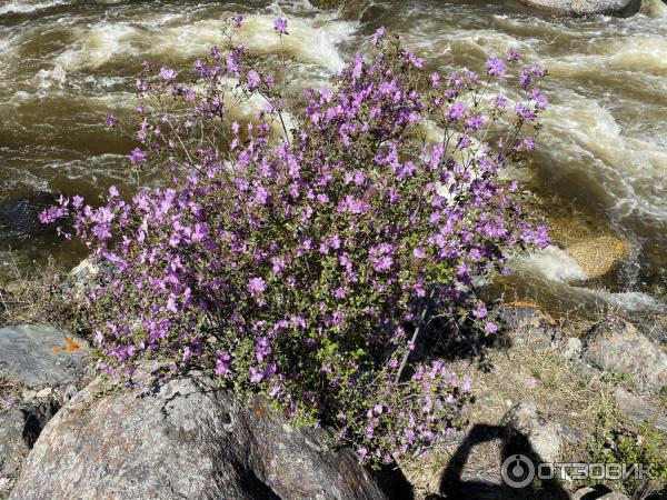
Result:
{"type": "Polygon", "coordinates": [[[53,327],[23,324],[0,329],[0,370],[30,388],[57,387],[79,379],[88,343],[53,327]]]}

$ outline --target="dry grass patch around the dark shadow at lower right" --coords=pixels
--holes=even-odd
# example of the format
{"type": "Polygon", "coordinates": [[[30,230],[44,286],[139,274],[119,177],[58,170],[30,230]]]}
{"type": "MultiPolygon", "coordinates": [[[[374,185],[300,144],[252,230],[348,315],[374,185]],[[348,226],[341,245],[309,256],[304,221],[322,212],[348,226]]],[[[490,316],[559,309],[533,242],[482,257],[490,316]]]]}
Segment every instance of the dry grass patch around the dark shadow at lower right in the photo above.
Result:
{"type": "MultiPolygon", "coordinates": [[[[598,414],[615,408],[610,382],[601,376],[586,380],[552,350],[517,344],[487,352],[484,367],[459,361],[451,368],[474,379],[475,400],[465,410],[468,422],[465,431],[475,424],[500,427],[511,407],[530,400],[550,421],[560,424],[566,434],[586,439],[593,434],[598,414]]],[[[438,492],[440,476],[458,444],[440,446],[406,467],[404,472],[416,486],[417,498],[438,492]]],[[[475,446],[461,470],[461,480],[500,484],[501,448],[500,439],[475,446]]],[[[563,451],[565,458],[569,452],[567,443],[563,451]]]]}

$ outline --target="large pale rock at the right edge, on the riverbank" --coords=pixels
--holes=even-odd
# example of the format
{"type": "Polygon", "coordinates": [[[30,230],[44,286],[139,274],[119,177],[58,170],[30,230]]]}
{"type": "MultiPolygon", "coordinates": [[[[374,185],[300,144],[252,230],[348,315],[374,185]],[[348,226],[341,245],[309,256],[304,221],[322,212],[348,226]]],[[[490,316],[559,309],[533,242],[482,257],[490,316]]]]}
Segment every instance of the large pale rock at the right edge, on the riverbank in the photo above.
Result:
{"type": "Polygon", "coordinates": [[[610,318],[584,337],[584,360],[639,388],[659,392],[667,384],[667,354],[627,321],[610,318]]]}

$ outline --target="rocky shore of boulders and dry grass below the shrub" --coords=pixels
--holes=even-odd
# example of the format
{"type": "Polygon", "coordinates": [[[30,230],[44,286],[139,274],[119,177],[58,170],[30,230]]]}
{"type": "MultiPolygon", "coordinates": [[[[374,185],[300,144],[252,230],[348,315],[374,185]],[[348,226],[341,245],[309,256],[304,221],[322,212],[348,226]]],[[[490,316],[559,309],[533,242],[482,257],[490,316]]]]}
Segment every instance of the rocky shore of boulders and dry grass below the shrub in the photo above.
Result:
{"type": "MultiPolygon", "coordinates": [[[[70,291],[94,279],[90,269],[70,274],[70,291]]],[[[241,404],[200,373],[157,382],[147,364],[137,387],[118,389],[91,377],[84,339],[0,329],[0,498],[626,498],[621,483],[569,478],[512,490],[502,459],[611,457],[618,443],[603,433],[619,429],[600,416],[634,436],[666,432],[665,351],[617,317],[580,338],[536,304],[504,306],[500,318],[482,358],[451,359],[474,380],[465,426],[389,476],[327,450],[327,430],[295,428],[261,400],[241,404]]],[[[661,494],[659,481],[645,488],[661,494]]]]}

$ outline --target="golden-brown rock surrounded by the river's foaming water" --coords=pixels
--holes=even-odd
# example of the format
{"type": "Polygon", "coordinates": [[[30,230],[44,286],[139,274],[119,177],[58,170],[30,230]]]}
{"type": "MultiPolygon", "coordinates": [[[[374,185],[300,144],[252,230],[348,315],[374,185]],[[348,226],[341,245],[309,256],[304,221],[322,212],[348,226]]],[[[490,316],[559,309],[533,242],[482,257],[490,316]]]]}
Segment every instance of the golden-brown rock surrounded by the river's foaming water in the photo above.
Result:
{"type": "Polygon", "coordinates": [[[617,269],[628,257],[628,243],[620,238],[603,234],[579,240],[568,247],[569,254],[588,278],[601,278],[617,269]]]}

